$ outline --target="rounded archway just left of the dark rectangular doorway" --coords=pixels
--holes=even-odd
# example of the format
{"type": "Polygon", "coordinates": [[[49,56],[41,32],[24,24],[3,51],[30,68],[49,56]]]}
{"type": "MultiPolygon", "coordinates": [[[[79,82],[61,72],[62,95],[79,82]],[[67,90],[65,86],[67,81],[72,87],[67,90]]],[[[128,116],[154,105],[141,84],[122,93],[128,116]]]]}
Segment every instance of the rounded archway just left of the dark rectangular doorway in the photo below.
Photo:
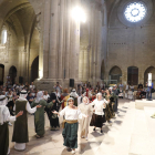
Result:
{"type": "Polygon", "coordinates": [[[108,75],[110,75],[111,84],[117,84],[121,82],[122,71],[118,66],[113,66],[108,75]]]}

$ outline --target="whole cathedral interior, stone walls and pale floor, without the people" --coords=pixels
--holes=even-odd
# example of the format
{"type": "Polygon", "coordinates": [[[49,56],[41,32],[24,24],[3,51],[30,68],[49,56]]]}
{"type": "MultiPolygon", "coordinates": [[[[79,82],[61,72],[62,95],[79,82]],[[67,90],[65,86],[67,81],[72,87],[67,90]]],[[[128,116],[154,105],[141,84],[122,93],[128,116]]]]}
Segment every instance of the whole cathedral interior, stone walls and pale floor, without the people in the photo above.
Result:
{"type": "MultiPolygon", "coordinates": [[[[135,94],[115,100],[118,110],[102,126],[102,135],[87,127],[89,141],[79,137],[76,154],[155,155],[155,95],[136,99],[136,86],[146,86],[148,73],[155,85],[154,10],[155,0],[0,0],[0,89],[6,93],[8,78],[12,85],[34,82],[32,94],[33,89],[51,93],[56,82],[63,89],[73,87],[71,81],[74,86],[121,84],[125,95],[135,94]],[[125,90],[127,84],[135,90],[125,90]]],[[[43,116],[45,134],[38,140],[33,114],[28,114],[30,142],[23,152],[14,151],[9,126],[11,155],[70,155],[62,128],[51,132],[44,111],[43,116]]]]}

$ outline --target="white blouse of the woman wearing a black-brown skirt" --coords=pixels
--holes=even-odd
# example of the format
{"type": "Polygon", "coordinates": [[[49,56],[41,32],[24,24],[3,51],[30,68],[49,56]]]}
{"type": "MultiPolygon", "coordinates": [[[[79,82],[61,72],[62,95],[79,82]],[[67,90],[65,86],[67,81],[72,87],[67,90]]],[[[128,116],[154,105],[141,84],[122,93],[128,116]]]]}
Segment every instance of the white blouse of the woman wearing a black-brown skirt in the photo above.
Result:
{"type": "Polygon", "coordinates": [[[92,105],[94,105],[95,114],[96,115],[104,115],[103,108],[105,108],[105,107],[104,107],[103,103],[106,103],[107,104],[108,102],[105,99],[103,99],[101,101],[99,101],[97,99],[95,99],[91,103],[92,105]]]}

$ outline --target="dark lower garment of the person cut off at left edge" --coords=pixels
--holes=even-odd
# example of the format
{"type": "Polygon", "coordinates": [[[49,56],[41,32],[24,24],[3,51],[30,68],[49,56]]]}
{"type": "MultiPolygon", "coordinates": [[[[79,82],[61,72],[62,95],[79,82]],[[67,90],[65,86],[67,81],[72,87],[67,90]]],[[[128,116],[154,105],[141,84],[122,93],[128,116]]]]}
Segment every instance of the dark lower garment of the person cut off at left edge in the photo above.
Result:
{"type": "Polygon", "coordinates": [[[8,123],[0,125],[0,154],[7,155],[9,148],[9,127],[8,123]]]}

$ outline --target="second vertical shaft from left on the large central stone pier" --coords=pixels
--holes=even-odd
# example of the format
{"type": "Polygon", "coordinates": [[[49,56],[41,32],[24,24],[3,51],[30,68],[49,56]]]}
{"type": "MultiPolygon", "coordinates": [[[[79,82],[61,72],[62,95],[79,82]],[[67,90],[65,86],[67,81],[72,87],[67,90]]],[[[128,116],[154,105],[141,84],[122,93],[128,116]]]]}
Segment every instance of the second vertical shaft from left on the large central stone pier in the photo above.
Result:
{"type": "Polygon", "coordinates": [[[58,53],[58,0],[51,0],[49,79],[56,79],[58,53]]]}

